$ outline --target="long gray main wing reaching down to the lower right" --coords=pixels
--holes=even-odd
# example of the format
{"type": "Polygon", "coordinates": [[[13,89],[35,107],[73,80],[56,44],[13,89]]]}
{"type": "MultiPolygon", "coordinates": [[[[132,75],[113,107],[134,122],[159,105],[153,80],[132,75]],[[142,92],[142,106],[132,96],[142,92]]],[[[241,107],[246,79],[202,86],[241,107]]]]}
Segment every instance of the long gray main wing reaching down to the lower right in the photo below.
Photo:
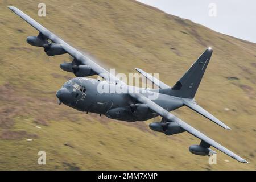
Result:
{"type": "Polygon", "coordinates": [[[210,139],[209,137],[207,137],[206,135],[204,135],[200,131],[194,129],[192,126],[188,125],[187,123],[185,123],[181,119],[177,118],[175,115],[169,113],[167,110],[163,109],[163,107],[160,107],[158,104],[155,104],[155,102],[151,101],[150,99],[143,96],[142,94],[130,93],[130,96],[135,98],[135,100],[137,100],[141,103],[147,104],[148,107],[152,111],[159,114],[160,116],[167,119],[168,121],[178,123],[179,126],[182,129],[184,129],[188,133],[194,135],[195,137],[203,140],[204,142],[208,143],[210,146],[213,146],[213,147],[217,148],[218,150],[224,152],[226,155],[229,155],[230,157],[238,160],[239,162],[249,163],[245,159],[242,159],[240,156],[234,154],[234,152],[232,152],[232,151],[228,150],[227,148],[221,146],[221,144],[215,142],[213,139],[210,139]]]}

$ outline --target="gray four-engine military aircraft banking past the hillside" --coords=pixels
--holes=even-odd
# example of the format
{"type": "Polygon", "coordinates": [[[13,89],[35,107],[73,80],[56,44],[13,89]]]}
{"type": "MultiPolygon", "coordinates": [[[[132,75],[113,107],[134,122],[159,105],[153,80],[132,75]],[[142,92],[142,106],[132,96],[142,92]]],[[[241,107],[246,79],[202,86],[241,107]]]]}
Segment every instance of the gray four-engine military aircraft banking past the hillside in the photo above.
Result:
{"type": "Polygon", "coordinates": [[[189,151],[193,154],[216,154],[215,151],[210,149],[210,146],[213,146],[239,162],[248,163],[245,159],[242,159],[240,156],[194,129],[175,115],[169,113],[169,111],[178,109],[179,107],[187,106],[214,123],[217,123],[217,125],[224,127],[224,129],[230,129],[219,119],[200,107],[194,99],[196,90],[199,87],[210,57],[212,56],[213,51],[211,48],[203,52],[173,87],[164,84],[142,69],[137,69],[138,72],[159,87],[159,89],[142,89],[125,84],[119,78],[100,67],[100,65],[94,63],[88,56],[77,51],[77,49],[61,40],[16,7],[9,6],[9,9],[39,31],[38,36],[29,36],[27,38],[29,44],[43,47],[44,52],[46,52],[48,56],[68,53],[73,57],[72,63],[60,64],[61,69],[72,72],[76,76],[76,78],[67,81],[63,87],[57,91],[56,96],[59,98],[60,103],[62,102],[80,111],[104,114],[108,118],[129,122],[146,121],[147,119],[160,116],[162,117],[162,121],[150,123],[150,129],[162,132],[166,135],[178,134],[184,131],[194,135],[199,138],[201,142],[199,145],[189,147],[189,151]],[[102,79],[84,78],[92,75],[98,75],[102,77],[102,79]],[[122,90],[126,92],[99,93],[99,85],[102,88],[108,88],[108,90],[122,87],[122,90]],[[134,92],[134,90],[137,92],[134,92]],[[156,92],[158,93],[158,97],[150,99],[150,96],[156,92]]]}

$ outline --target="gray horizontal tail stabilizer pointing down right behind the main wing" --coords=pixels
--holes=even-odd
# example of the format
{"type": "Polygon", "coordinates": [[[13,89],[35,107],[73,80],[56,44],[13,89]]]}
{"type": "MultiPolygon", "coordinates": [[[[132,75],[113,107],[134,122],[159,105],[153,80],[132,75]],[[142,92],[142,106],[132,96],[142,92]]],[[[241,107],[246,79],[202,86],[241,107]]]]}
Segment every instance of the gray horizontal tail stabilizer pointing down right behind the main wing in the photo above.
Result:
{"type": "Polygon", "coordinates": [[[183,103],[184,105],[188,106],[190,109],[196,111],[197,113],[203,115],[205,118],[210,119],[217,125],[220,125],[221,127],[224,127],[224,129],[231,130],[230,127],[226,126],[224,123],[222,123],[220,120],[218,120],[216,117],[214,117],[212,114],[208,113],[205,109],[200,107],[199,105],[196,104],[195,101],[190,100],[190,99],[184,99],[183,98],[183,103]]]}

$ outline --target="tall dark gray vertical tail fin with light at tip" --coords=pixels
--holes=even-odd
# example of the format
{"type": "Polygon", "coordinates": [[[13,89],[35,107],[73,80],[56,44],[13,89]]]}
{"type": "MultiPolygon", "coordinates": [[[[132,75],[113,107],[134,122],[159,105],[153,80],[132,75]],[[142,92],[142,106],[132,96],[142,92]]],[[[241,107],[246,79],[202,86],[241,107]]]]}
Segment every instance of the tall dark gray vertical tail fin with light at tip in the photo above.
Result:
{"type": "Polygon", "coordinates": [[[212,48],[206,49],[202,55],[192,64],[187,72],[172,87],[171,95],[183,98],[194,98],[196,90],[204,75],[205,69],[212,56],[212,48]]]}

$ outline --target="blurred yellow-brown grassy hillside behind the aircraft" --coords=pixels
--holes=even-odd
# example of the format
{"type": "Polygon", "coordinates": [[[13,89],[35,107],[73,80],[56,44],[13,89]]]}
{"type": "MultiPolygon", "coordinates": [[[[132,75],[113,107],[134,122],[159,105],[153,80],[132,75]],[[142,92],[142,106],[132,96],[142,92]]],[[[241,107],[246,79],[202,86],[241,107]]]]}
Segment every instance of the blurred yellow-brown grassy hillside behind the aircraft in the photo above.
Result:
{"type": "Polygon", "coordinates": [[[42,18],[39,2],[0,2],[0,169],[256,169],[256,44],[135,1],[45,0],[42,18]],[[127,123],[57,105],[56,90],[73,77],[59,68],[69,57],[48,57],[27,44],[27,36],[38,32],[7,9],[10,5],[90,52],[104,67],[124,73],[143,68],[171,86],[211,46],[196,100],[233,130],[185,107],[172,113],[250,164],[218,152],[217,165],[209,165],[208,157],[188,151],[199,139],[148,128],[160,118],[127,123]],[[44,166],[37,163],[40,150],[46,151],[44,166]]]}

